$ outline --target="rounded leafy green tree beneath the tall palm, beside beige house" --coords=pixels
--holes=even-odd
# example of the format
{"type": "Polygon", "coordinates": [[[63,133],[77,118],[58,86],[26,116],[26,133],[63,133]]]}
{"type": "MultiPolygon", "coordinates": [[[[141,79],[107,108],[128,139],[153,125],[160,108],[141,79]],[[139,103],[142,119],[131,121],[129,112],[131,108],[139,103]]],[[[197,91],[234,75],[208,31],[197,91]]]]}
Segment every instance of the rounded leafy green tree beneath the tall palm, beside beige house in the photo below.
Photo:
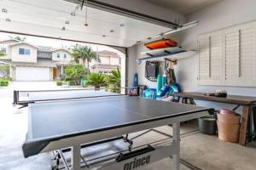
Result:
{"type": "Polygon", "coordinates": [[[76,82],[77,85],[80,84],[81,79],[88,73],[87,69],[83,65],[70,64],[67,65],[65,69],[65,77],[71,81],[76,82]]]}

